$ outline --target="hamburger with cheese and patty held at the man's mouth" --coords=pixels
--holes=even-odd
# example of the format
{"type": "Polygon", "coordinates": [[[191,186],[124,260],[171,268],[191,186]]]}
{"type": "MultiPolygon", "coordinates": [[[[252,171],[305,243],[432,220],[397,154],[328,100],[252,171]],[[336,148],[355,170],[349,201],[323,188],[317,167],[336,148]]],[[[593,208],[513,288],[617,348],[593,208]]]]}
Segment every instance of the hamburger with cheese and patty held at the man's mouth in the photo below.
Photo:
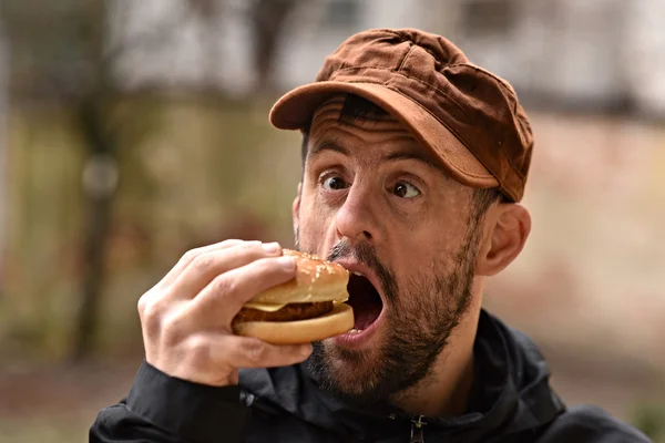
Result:
{"type": "Polygon", "coordinates": [[[339,336],[354,328],[354,311],[346,305],[349,271],[341,265],[284,249],[296,257],[296,277],[260,292],[235,316],[235,334],[274,344],[296,344],[339,336]]]}

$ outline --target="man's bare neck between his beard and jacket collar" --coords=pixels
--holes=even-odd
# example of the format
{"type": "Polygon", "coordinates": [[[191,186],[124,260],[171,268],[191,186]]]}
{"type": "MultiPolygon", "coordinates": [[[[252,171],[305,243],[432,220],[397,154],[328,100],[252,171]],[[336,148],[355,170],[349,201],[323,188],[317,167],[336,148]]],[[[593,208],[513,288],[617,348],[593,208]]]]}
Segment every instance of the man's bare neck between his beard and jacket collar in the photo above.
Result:
{"type": "Polygon", "coordinates": [[[452,416],[469,406],[473,385],[473,343],[480,317],[483,282],[475,282],[473,301],[460,323],[451,332],[449,343],[439,354],[430,373],[407,391],[392,398],[392,403],[412,415],[452,416]]]}

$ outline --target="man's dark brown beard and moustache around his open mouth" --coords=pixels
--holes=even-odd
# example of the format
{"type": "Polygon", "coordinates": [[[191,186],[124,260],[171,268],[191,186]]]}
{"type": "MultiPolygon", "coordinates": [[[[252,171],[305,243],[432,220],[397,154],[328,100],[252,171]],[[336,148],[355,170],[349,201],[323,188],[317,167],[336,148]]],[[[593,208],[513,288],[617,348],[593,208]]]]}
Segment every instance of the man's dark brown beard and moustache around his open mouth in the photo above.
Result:
{"type": "Polygon", "coordinates": [[[346,403],[366,405],[390,400],[427,379],[469,309],[479,236],[478,223],[471,223],[456,253],[437,258],[402,281],[379,260],[371,245],[337,244],[327,259],[354,257],[372,269],[385,295],[386,312],[375,349],[355,351],[331,342],[313,343],[306,364],[319,387],[346,403]]]}

